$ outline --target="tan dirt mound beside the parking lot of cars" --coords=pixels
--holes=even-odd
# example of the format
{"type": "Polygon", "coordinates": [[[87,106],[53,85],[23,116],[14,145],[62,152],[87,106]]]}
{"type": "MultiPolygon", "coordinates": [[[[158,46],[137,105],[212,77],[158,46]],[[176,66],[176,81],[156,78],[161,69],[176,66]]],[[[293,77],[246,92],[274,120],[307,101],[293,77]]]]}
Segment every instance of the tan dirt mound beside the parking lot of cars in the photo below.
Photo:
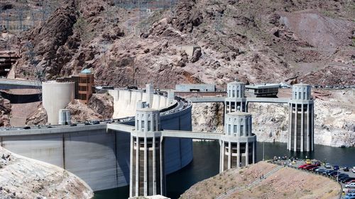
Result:
{"type": "Polygon", "coordinates": [[[342,189],[337,182],[297,169],[282,168],[260,182],[261,175],[273,171],[276,165],[263,161],[241,169],[229,169],[200,181],[180,198],[217,198],[232,188],[226,198],[339,198],[342,189]],[[256,183],[254,183],[256,182],[256,183]],[[253,186],[251,186],[251,184],[253,186]]]}

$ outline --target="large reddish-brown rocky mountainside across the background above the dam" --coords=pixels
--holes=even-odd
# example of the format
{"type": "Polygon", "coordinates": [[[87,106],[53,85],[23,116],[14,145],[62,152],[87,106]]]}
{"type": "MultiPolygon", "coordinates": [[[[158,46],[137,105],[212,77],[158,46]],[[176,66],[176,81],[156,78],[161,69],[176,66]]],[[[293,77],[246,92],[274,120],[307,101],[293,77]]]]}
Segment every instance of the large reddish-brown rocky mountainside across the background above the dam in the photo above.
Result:
{"type": "Polygon", "coordinates": [[[138,86],[159,88],[222,87],[235,77],[355,84],[353,1],[180,0],[141,15],[115,2],[65,1],[21,36],[31,45],[21,48],[17,76],[33,78],[33,66],[45,79],[93,67],[97,84],[114,86],[133,84],[133,76],[138,86]]]}

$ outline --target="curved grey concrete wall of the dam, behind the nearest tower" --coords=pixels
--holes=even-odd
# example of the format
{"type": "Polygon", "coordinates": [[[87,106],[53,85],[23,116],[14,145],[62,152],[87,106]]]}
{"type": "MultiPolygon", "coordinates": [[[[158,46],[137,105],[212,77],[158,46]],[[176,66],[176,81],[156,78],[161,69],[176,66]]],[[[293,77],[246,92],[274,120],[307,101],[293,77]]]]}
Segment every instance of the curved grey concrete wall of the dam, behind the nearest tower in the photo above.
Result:
{"type": "MultiPolygon", "coordinates": [[[[131,103],[135,110],[136,104],[131,103]]],[[[134,115],[133,110],[129,116],[134,115]]],[[[192,130],[191,106],[163,115],[160,124],[164,130],[192,130]]],[[[127,132],[107,130],[107,124],[0,132],[2,147],[60,166],[82,178],[94,191],[129,185],[130,138],[127,132]]],[[[165,174],[192,161],[192,140],[164,140],[165,174]]]]}

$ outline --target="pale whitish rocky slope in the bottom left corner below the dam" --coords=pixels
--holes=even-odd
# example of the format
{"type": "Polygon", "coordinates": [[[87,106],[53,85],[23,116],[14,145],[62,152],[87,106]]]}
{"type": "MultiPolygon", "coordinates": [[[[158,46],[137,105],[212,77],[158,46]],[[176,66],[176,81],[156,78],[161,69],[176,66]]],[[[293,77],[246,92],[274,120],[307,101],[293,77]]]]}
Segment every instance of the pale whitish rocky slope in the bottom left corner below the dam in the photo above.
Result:
{"type": "Polygon", "coordinates": [[[58,166],[0,147],[0,198],[92,198],[84,181],[58,166]]]}

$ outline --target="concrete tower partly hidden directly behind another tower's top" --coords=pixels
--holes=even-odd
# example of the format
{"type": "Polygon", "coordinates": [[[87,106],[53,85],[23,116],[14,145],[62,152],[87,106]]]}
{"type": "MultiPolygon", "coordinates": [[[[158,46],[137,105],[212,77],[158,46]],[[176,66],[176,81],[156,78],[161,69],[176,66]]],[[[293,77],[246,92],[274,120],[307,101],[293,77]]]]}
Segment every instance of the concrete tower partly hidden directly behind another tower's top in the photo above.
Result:
{"type": "Polygon", "coordinates": [[[224,113],[233,113],[238,110],[248,111],[246,108],[246,98],[244,96],[245,84],[241,81],[233,81],[226,86],[227,96],[224,101],[224,113]]]}

